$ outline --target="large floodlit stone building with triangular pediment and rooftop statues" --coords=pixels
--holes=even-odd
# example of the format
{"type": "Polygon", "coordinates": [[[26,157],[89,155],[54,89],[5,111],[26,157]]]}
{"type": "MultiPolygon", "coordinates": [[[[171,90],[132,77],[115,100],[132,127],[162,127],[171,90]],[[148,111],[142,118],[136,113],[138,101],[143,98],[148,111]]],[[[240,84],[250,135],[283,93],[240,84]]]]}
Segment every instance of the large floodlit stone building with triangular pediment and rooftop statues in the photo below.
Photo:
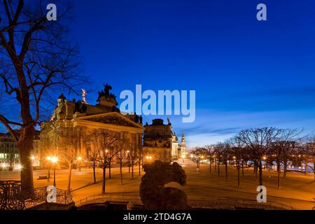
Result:
{"type": "MultiPolygon", "coordinates": [[[[50,121],[41,125],[42,154],[71,156],[71,160],[80,157],[84,160],[81,165],[87,165],[97,147],[92,139],[95,132],[116,134],[128,143],[130,151],[142,152],[141,116],[120,113],[116,96],[109,90],[111,86],[104,85],[96,105],[87,104],[85,92],[82,101],[67,101],[61,94],[50,121]]],[[[64,166],[67,166],[65,161],[64,166]]]]}

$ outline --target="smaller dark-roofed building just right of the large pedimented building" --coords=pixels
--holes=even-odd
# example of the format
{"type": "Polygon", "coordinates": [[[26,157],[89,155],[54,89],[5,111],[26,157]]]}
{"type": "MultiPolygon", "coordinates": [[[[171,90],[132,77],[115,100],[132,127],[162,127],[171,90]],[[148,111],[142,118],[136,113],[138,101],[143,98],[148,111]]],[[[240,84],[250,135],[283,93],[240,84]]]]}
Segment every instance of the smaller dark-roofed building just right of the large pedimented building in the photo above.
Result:
{"type": "MultiPolygon", "coordinates": [[[[168,120],[169,121],[169,120],[168,120]]],[[[162,119],[154,119],[144,126],[144,155],[152,160],[173,161],[179,158],[179,141],[172,131],[172,123],[165,125],[162,119]]]]}

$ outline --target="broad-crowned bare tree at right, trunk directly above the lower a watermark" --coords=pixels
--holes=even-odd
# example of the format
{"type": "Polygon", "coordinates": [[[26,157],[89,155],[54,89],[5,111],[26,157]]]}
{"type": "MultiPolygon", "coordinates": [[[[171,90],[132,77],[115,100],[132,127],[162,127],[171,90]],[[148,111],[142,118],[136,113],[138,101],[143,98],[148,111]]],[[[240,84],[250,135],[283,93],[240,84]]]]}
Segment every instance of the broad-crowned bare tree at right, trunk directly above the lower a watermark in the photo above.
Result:
{"type": "Polygon", "coordinates": [[[259,183],[262,186],[262,160],[272,148],[272,143],[281,136],[282,130],[275,127],[262,127],[241,130],[237,138],[251,153],[251,157],[257,161],[259,170],[259,183]]]}

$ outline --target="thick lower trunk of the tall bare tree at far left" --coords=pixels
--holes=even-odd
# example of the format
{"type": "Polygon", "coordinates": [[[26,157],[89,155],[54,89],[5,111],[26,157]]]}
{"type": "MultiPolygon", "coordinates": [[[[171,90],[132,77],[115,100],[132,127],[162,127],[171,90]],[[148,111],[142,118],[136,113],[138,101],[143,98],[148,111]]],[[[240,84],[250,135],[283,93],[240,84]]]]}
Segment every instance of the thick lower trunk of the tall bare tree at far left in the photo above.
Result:
{"type": "Polygon", "coordinates": [[[21,190],[34,190],[33,183],[33,165],[31,161],[31,150],[33,149],[34,126],[27,125],[20,130],[20,139],[18,141],[18,148],[20,151],[20,164],[22,166],[21,190]]]}

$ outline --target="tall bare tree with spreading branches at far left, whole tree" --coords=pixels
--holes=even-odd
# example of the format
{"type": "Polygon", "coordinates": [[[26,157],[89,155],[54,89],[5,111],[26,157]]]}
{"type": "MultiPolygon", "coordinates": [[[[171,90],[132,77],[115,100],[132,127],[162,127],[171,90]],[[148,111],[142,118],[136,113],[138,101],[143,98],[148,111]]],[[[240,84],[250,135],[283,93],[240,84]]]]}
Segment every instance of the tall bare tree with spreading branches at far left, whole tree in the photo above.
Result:
{"type": "MultiPolygon", "coordinates": [[[[68,8],[59,10],[57,21],[46,19],[43,1],[3,0],[0,3],[0,79],[7,99],[14,99],[20,116],[0,114],[0,122],[17,142],[20,151],[22,190],[33,190],[30,153],[34,127],[41,118],[43,98],[53,86],[69,87],[77,76],[76,45],[65,41],[64,18],[68,8]],[[13,126],[20,127],[20,135],[13,126]]],[[[64,5],[64,4],[60,4],[64,5]]],[[[74,81],[74,82],[73,82],[74,81]]]]}

